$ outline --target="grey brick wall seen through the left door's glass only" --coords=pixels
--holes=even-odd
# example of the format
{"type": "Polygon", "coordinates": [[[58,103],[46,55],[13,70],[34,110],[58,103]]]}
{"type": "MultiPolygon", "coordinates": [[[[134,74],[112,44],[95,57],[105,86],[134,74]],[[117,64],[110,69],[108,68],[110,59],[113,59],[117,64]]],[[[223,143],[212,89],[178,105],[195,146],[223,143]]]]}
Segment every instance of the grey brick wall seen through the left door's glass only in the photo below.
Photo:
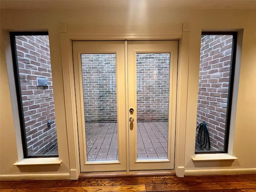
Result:
{"type": "Polygon", "coordinates": [[[117,121],[116,55],[82,54],[86,122],[117,121]]]}

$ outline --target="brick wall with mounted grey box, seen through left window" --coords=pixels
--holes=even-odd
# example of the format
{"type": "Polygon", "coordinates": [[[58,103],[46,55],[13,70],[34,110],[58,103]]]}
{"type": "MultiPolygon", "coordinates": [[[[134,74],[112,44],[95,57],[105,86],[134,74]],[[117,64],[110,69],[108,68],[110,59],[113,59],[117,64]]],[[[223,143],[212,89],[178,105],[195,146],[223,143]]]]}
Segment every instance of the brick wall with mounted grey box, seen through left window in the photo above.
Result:
{"type": "Polygon", "coordinates": [[[16,36],[16,50],[28,155],[47,154],[57,146],[48,36],[16,36]],[[48,86],[37,86],[36,78],[47,78],[48,86]]]}

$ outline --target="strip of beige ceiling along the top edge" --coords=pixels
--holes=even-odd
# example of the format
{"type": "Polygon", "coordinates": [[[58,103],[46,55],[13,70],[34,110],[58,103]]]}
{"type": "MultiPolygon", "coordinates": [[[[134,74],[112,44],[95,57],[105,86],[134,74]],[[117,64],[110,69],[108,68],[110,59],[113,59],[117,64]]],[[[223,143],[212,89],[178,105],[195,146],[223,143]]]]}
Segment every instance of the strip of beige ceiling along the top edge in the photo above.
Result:
{"type": "Polygon", "coordinates": [[[0,0],[1,9],[255,9],[256,0],[0,0]]]}

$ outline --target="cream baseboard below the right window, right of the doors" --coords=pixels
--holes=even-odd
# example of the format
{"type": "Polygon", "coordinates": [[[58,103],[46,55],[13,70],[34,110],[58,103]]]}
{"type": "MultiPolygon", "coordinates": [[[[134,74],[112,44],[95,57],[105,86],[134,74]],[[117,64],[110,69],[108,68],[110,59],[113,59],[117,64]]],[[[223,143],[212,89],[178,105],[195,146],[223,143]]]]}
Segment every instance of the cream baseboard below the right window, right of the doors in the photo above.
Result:
{"type": "Polygon", "coordinates": [[[256,173],[256,168],[242,169],[205,169],[205,170],[185,170],[186,175],[214,175],[214,174],[250,174],[256,173]]]}

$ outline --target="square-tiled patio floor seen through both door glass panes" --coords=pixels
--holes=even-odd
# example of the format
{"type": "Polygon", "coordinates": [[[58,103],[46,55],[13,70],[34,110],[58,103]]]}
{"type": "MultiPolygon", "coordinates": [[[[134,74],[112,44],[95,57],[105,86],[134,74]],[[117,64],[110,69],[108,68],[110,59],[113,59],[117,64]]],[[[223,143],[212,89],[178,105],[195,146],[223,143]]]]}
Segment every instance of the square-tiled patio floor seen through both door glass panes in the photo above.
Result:
{"type": "MultiPolygon", "coordinates": [[[[167,158],[168,122],[137,123],[137,158],[167,158]]],[[[117,160],[117,123],[86,123],[88,161],[117,160]]]]}

